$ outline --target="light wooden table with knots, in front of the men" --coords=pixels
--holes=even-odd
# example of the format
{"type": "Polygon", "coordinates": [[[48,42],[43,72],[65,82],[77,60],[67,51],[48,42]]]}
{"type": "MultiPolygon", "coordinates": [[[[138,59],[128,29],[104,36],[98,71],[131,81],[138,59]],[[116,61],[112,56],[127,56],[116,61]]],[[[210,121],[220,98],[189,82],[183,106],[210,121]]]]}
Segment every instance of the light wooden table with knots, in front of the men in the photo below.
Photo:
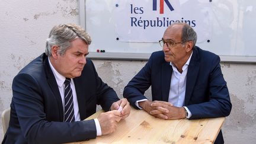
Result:
{"type": "MultiPolygon", "coordinates": [[[[94,119],[103,110],[88,119],[94,119]]],[[[116,132],[81,143],[213,143],[225,117],[199,120],[162,120],[144,110],[131,108],[130,116],[119,122],[116,132]]],[[[71,144],[71,143],[70,143],[71,144]]]]}

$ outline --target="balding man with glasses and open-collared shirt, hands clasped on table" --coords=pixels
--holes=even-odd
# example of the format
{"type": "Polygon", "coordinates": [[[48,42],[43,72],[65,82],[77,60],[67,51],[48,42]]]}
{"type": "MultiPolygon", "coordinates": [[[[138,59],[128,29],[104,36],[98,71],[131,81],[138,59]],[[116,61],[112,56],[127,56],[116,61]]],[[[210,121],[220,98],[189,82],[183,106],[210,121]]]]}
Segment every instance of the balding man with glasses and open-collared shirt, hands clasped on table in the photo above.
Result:
{"type": "MultiPolygon", "coordinates": [[[[123,96],[133,107],[160,119],[228,116],[232,104],[220,58],[195,46],[196,40],[197,34],[190,25],[170,25],[159,41],[162,51],[152,53],[124,88],[123,96]],[[149,87],[152,101],[144,96],[149,87]]],[[[223,143],[221,131],[215,143],[223,143]]]]}

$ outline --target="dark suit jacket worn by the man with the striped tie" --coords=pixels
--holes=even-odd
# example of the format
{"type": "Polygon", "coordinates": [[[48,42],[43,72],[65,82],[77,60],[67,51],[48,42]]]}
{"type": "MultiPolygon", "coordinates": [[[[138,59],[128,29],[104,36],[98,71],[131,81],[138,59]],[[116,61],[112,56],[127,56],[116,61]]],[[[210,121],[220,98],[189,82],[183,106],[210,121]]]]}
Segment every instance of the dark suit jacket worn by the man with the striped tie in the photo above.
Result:
{"type": "MultiPolygon", "coordinates": [[[[81,76],[73,81],[81,120],[94,114],[97,104],[108,111],[119,100],[89,59],[81,76]]],[[[94,120],[62,122],[62,100],[45,54],[15,76],[12,91],[11,117],[2,143],[65,143],[97,136],[94,120]]]]}

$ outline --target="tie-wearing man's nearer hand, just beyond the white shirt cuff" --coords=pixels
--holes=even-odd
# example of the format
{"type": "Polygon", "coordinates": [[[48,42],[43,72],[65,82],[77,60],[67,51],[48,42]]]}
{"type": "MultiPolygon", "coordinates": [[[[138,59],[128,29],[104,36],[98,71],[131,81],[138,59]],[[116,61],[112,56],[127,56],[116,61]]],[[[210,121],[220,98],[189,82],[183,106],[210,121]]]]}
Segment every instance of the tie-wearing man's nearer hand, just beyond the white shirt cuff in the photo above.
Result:
{"type": "Polygon", "coordinates": [[[121,120],[121,117],[119,111],[113,110],[101,113],[97,119],[101,126],[101,135],[107,135],[116,131],[117,123],[121,120]]]}

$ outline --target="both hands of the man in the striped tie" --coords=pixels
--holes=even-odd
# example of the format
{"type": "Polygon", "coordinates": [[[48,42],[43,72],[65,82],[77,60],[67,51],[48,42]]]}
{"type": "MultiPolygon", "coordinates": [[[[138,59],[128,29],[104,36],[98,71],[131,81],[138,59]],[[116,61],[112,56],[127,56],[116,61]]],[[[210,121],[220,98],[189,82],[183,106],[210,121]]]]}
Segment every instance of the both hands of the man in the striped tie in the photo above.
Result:
{"type": "Polygon", "coordinates": [[[128,117],[129,114],[130,103],[126,98],[122,98],[113,103],[110,107],[110,111],[101,113],[97,118],[101,126],[101,134],[107,135],[116,131],[117,123],[119,123],[121,119],[128,117]],[[119,110],[120,107],[122,107],[122,110],[119,110]]]}

